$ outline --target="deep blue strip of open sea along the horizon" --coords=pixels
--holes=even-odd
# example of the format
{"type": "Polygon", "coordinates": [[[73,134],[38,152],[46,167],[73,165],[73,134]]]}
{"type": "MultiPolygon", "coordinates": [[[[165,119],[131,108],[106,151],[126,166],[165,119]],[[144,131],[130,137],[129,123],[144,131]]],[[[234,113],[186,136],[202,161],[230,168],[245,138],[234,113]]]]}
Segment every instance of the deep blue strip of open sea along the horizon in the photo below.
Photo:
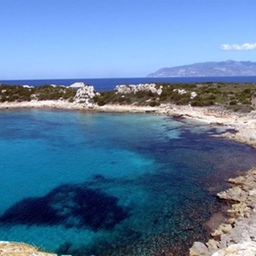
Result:
{"type": "Polygon", "coordinates": [[[120,84],[140,84],[150,82],[196,83],[196,82],[256,82],[256,76],[227,76],[227,77],[140,77],[140,78],[76,78],[76,79],[42,79],[42,80],[0,80],[0,83],[14,85],[40,86],[56,84],[69,86],[75,82],[93,85],[97,91],[111,91],[120,84]]]}

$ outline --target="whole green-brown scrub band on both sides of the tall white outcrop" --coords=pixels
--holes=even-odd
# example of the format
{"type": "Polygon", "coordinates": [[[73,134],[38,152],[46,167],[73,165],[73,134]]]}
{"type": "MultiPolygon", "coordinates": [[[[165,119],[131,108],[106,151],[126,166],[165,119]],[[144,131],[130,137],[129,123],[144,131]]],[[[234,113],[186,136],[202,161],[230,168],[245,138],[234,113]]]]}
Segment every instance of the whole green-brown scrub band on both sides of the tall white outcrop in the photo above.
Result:
{"type": "MultiPolygon", "coordinates": [[[[152,84],[151,84],[152,85],[152,84]]],[[[196,107],[223,106],[226,109],[250,112],[256,108],[256,83],[155,83],[155,90],[103,91],[93,98],[99,106],[105,104],[158,106],[160,104],[196,107]]],[[[124,85],[134,89],[134,86],[124,85]]],[[[68,86],[38,87],[0,84],[0,102],[31,100],[75,100],[77,90],[68,86]]]]}

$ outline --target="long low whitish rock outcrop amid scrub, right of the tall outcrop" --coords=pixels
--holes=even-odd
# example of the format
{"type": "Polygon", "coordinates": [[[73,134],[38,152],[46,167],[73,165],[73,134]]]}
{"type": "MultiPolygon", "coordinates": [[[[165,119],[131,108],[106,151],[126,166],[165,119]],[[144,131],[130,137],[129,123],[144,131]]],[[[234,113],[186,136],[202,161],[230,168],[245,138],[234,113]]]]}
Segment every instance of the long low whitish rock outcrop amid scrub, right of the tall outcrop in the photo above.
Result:
{"type": "Polygon", "coordinates": [[[126,94],[126,93],[134,93],[134,94],[136,94],[139,91],[144,91],[144,92],[151,92],[153,94],[161,95],[161,93],[162,93],[162,86],[157,88],[156,84],[154,84],[154,83],[151,83],[151,84],[138,84],[138,85],[122,84],[122,85],[117,85],[114,90],[117,93],[120,93],[120,94],[126,94]]]}

